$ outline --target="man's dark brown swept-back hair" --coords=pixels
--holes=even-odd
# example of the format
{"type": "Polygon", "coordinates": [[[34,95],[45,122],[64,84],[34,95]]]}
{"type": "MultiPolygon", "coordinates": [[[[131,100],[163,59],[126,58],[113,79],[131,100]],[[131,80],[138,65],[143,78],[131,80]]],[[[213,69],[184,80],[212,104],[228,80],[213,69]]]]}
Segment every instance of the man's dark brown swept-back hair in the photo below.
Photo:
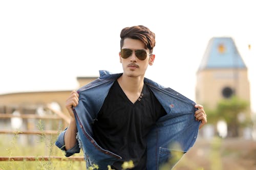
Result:
{"type": "Polygon", "coordinates": [[[150,29],[145,26],[126,27],[122,29],[120,37],[121,48],[123,46],[123,41],[125,38],[132,38],[142,41],[145,44],[145,49],[149,49],[150,53],[153,52],[153,48],[156,45],[155,33],[150,31],[150,29]]]}

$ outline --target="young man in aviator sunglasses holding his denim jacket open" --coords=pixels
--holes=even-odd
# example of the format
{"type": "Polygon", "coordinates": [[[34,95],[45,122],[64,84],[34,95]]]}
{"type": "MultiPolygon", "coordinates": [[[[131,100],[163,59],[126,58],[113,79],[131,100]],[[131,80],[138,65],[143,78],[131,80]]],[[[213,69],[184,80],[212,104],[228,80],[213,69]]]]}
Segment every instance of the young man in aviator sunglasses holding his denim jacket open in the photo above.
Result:
{"type": "Polygon", "coordinates": [[[155,60],[152,31],[127,27],[120,37],[123,73],[101,70],[97,80],[72,91],[66,101],[70,126],[56,145],[66,156],[82,148],[88,167],[122,169],[132,160],[133,169],[158,169],[175,157],[174,151],[183,154],[192,147],[206,114],[203,106],[144,78],[155,60]]]}

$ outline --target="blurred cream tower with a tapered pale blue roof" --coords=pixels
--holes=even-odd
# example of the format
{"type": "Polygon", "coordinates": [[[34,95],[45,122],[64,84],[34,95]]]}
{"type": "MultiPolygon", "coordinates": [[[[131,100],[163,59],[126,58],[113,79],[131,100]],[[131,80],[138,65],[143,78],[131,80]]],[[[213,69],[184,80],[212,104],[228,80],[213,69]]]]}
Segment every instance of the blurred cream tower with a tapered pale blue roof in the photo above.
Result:
{"type": "Polygon", "coordinates": [[[233,94],[250,102],[247,67],[231,37],[211,38],[197,71],[196,101],[213,109],[233,94]]]}

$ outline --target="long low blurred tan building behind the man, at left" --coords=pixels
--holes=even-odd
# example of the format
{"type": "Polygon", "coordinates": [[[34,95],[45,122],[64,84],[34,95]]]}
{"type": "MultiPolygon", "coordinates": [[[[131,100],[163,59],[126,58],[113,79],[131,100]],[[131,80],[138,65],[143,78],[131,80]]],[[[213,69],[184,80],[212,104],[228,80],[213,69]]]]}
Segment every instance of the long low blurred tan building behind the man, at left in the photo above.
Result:
{"type": "MultiPolygon", "coordinates": [[[[97,79],[97,77],[77,77],[79,87],[88,84],[97,79]]],[[[79,88],[77,87],[77,88],[79,88]]],[[[69,117],[65,108],[65,102],[72,90],[65,91],[33,91],[33,92],[15,92],[0,94],[0,127],[2,133],[12,131],[35,132],[35,131],[59,131],[68,126],[63,116],[61,119],[54,119],[56,112],[52,109],[64,113],[69,117]],[[9,115],[20,115],[21,117],[10,117],[9,115]],[[34,116],[31,116],[34,115],[34,116]],[[5,117],[7,116],[7,117],[5,117]],[[27,118],[24,118],[24,116],[27,118]],[[37,116],[52,116],[49,119],[38,119],[37,116]]],[[[61,115],[63,115],[61,113],[61,115]]],[[[1,134],[1,133],[0,133],[1,134]]],[[[5,136],[7,140],[12,140],[13,134],[8,133],[5,136]]],[[[39,135],[18,135],[18,142],[34,145],[40,138],[39,135]]]]}

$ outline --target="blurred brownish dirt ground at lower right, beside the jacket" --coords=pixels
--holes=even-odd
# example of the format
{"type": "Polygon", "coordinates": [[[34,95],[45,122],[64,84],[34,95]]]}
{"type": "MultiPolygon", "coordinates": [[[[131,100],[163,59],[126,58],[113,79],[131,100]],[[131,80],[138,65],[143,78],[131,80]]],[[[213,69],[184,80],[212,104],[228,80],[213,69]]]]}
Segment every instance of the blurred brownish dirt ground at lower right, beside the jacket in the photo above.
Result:
{"type": "Polygon", "coordinates": [[[238,138],[198,139],[175,170],[256,170],[256,141],[238,138]]]}

